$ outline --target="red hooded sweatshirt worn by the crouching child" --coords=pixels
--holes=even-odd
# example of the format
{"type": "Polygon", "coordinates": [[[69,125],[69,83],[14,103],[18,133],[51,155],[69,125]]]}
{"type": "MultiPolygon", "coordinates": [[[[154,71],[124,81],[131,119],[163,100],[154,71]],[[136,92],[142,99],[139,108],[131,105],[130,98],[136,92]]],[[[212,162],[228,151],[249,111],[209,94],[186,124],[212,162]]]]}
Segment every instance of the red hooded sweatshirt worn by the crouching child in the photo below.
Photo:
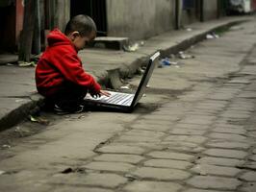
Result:
{"type": "Polygon", "coordinates": [[[48,47],[36,68],[38,93],[51,96],[63,87],[64,82],[85,86],[90,92],[99,92],[100,85],[83,69],[71,41],[58,29],[52,31],[47,40],[48,47]]]}

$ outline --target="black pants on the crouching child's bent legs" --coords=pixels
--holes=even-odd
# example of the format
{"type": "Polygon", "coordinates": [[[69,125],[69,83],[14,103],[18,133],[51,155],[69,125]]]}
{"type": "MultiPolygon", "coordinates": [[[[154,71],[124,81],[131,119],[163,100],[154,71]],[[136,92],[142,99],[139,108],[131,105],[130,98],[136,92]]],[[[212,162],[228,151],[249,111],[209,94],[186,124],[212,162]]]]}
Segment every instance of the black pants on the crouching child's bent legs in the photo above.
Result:
{"type": "Polygon", "coordinates": [[[64,83],[58,92],[46,98],[46,106],[52,108],[57,105],[64,110],[71,111],[83,104],[87,93],[88,90],[84,86],[64,83]]]}

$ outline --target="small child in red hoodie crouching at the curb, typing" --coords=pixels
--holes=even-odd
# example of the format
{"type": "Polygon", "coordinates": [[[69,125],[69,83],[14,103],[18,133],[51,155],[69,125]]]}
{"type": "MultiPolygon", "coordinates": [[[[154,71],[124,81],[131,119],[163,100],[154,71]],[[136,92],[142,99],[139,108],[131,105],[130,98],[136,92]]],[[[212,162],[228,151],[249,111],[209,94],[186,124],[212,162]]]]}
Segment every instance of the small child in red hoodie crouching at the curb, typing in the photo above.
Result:
{"type": "Polygon", "coordinates": [[[64,34],[55,29],[47,36],[48,47],[36,68],[36,84],[38,93],[57,112],[83,111],[88,92],[96,97],[110,96],[85,72],[77,55],[95,38],[96,31],[90,16],[80,14],[66,24],[64,34]]]}

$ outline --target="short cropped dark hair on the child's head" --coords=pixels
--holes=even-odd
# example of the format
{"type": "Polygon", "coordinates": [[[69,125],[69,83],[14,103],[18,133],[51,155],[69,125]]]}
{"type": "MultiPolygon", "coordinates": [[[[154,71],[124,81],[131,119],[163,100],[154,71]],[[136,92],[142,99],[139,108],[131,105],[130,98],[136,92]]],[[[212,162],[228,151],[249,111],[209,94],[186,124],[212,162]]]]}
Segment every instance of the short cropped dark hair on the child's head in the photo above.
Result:
{"type": "Polygon", "coordinates": [[[88,15],[78,14],[72,17],[65,26],[64,34],[79,32],[81,36],[90,36],[92,32],[97,32],[96,25],[88,15]]]}

